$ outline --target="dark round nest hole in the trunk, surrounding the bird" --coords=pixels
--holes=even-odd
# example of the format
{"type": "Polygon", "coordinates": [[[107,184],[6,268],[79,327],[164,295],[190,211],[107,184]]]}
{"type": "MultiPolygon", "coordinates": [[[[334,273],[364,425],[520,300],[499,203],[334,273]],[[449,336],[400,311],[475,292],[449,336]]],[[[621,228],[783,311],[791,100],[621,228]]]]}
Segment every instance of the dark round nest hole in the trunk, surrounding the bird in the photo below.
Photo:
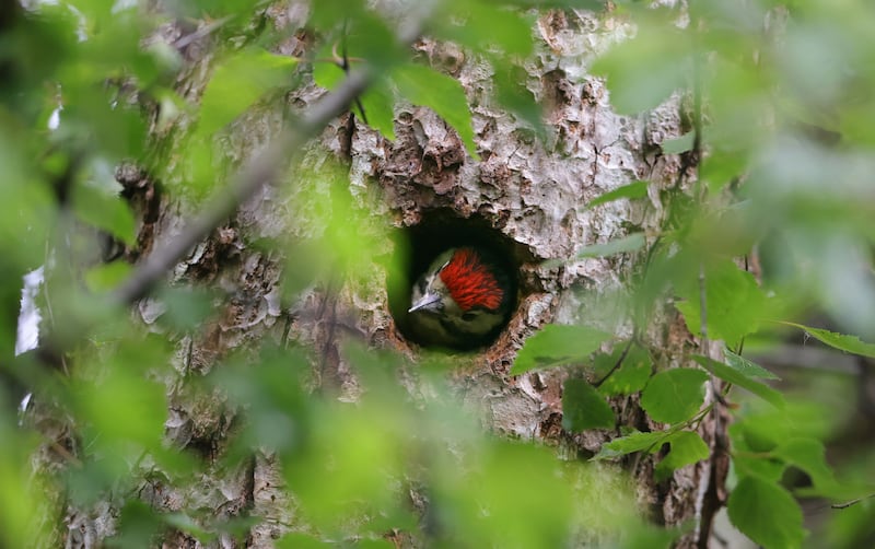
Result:
{"type": "Polygon", "coordinates": [[[459,218],[453,210],[436,209],[423,212],[420,223],[398,229],[395,240],[395,265],[387,280],[389,312],[400,334],[421,347],[435,347],[428,337],[417,334],[410,323],[413,283],[425,272],[435,257],[446,249],[471,246],[487,250],[510,280],[512,304],[503,322],[488,336],[452,346],[455,350],[471,351],[492,343],[506,328],[520,303],[520,266],[528,257],[527,248],[494,229],[480,215],[459,218]]]}

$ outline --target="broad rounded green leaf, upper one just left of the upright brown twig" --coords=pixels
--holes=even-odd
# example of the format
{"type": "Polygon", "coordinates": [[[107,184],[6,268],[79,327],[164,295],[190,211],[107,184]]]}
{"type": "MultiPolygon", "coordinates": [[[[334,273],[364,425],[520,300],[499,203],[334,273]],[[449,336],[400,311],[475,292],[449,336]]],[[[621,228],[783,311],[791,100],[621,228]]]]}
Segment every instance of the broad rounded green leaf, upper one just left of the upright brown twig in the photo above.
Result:
{"type": "Polygon", "coordinates": [[[676,367],[654,375],[641,393],[641,407],[660,423],[678,423],[699,411],[708,374],[676,367]]]}

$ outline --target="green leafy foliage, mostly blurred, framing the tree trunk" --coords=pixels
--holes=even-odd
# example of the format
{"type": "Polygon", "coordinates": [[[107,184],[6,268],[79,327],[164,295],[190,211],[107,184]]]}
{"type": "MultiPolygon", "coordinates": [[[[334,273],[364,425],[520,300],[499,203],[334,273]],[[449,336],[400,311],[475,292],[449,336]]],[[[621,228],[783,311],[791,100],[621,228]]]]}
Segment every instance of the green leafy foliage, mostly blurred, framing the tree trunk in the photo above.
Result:
{"type": "MultiPolygon", "coordinates": [[[[501,77],[513,73],[515,60],[533,48],[533,12],[521,10],[533,2],[508,3],[516,7],[444,2],[435,13],[456,17],[435,16],[428,32],[493,63],[497,96],[541,132],[532,97],[501,77]]],[[[552,4],[603,9],[599,2],[552,4]]],[[[361,3],[339,7],[315,2],[310,25],[322,38],[317,57],[330,58],[332,45],[342,38],[350,57],[378,68],[377,82],[357,107],[364,110],[360,115],[390,138],[393,102],[401,96],[433,108],[476,155],[460,85],[410,61],[396,44],[392,24],[361,3]]],[[[136,242],[137,224],[116,196],[113,166],[125,159],[151,157],[149,167],[160,177],[168,160],[167,152],[145,147],[139,104],[147,110],[159,107],[153,120],[159,136],[173,131],[180,112],[197,118],[185,150],[174,153],[190,177],[166,190],[202,196],[221,192],[212,183],[217,135],[224,136],[228,125],[254,102],[303,81],[296,72],[300,60],[268,52],[282,36],[250,21],[249,14],[260,9],[257,3],[190,9],[178,15],[209,13],[211,21],[224,21],[215,31],[218,42],[234,44],[219,51],[200,107],[173,87],[183,66],[178,54],[160,43],[143,46],[141,38],[160,21],[136,8],[102,1],[45,5],[4,37],[0,61],[10,78],[0,87],[3,306],[18,311],[24,272],[54,266],[46,283],[48,301],[65,322],[55,322],[50,331],[58,344],[72,349],[73,375],[46,373],[26,360],[7,370],[38,388],[40,406],[68,419],[78,447],[58,447],[58,441],[46,439],[46,432],[55,432],[46,425],[19,425],[11,411],[13,394],[2,395],[3,545],[54,535],[54,526],[44,532],[42,525],[44,517],[58,514],[52,507],[62,503],[52,494],[60,493],[59,487],[74,505],[109,501],[121,510],[114,541],[125,547],[171,530],[203,541],[223,533],[242,537],[250,526],[247,521],[218,521],[196,502],[176,514],[158,514],[138,494],[143,479],[173,486],[177,478],[233,469],[252,457],[252,448],[260,448],[282,464],[283,480],[300,505],[300,532],[280,539],[280,546],[334,540],[389,547],[387,533],[408,533],[447,546],[462,539],[475,547],[556,547],[583,538],[653,547],[678,533],[646,526],[631,511],[628,481],[606,462],[667,449],[655,470],[665,479],[707,458],[708,446],[692,428],[714,407],[728,407],[735,416],[728,514],[752,540],[769,548],[800,547],[806,539],[801,498],[859,500],[830,511],[827,526],[815,533],[818,540],[851,547],[872,536],[872,500],[865,498],[875,491],[866,465],[875,463],[871,441],[838,464],[838,475],[826,459],[825,445],[844,428],[853,402],[818,388],[828,384],[842,395],[852,383],[821,374],[796,384],[798,394],[781,392],[772,373],[745,357],[752,347],[767,348],[801,330],[841,351],[875,357],[872,346],[854,337],[800,324],[812,311],[822,311],[842,331],[870,340],[875,336],[870,257],[875,202],[868,180],[875,167],[870,124],[875,100],[866,93],[875,87],[867,27],[875,14],[866,2],[763,1],[740,8],[696,1],[686,24],[678,24],[678,13],[670,10],[612,2],[614,11],[605,16],[637,25],[633,39],[593,67],[607,79],[612,104],[637,114],[684,90],[689,133],[662,143],[662,153],[685,159],[687,171],[675,188],[649,194],[648,182],[633,182],[590,205],[646,203],[656,196],[662,208],[658,234],[632,227],[621,241],[580,252],[581,257],[637,254],[640,260],[628,281],[628,315],[617,319],[618,326],[633,327],[632,337],[618,338],[604,327],[548,326],[527,341],[514,365],[514,374],[590,365],[592,376],[569,379],[564,387],[563,427],[571,432],[622,429],[607,404],[608,397],[622,395],[640,394],[648,414],[665,424],[662,431],[625,432],[591,464],[560,462],[547,448],[485,436],[453,406],[452,395],[412,401],[397,388],[394,373],[405,367],[399,359],[372,358],[354,347],[347,352],[363,378],[360,402],[313,395],[311,351],[266,349],[256,361],[232,358],[196,384],[205,395],[225,395],[230,409],[245,411],[228,455],[207,465],[202,456],[165,443],[162,382],[172,375],[173,353],[163,338],[129,326],[120,308],[96,306],[100,301],[71,280],[69,266],[86,262],[82,253],[93,235],[80,236],[70,219],[128,245],[136,242]],[[49,131],[59,114],[62,124],[49,131]],[[754,259],[761,264],[756,273],[747,268],[754,259]],[[666,296],[675,300],[703,347],[686,358],[690,367],[658,370],[648,348],[644,329],[666,296]],[[101,328],[81,337],[79,324],[101,328]],[[77,339],[66,340],[69,335],[77,339]],[[721,347],[716,355],[723,360],[707,352],[713,346],[721,347]],[[614,349],[611,354],[600,352],[606,347],[614,349]],[[722,395],[705,402],[705,384],[718,379],[722,395]],[[446,404],[435,404],[440,401],[446,404]],[[34,476],[31,456],[40,448],[55,452],[67,466],[34,476]],[[800,475],[807,481],[795,482],[800,475]],[[429,500],[427,516],[411,493],[429,500]]],[[[317,62],[313,72],[328,87],[345,78],[331,63],[317,62]]],[[[355,260],[368,257],[361,249],[345,252],[338,256],[350,272],[355,260]]],[[[84,282],[101,295],[129,271],[126,264],[109,264],[91,269],[84,282]]],[[[317,277],[317,269],[311,274],[317,277]]],[[[314,283],[303,278],[291,291],[314,283]]],[[[163,329],[185,332],[203,320],[210,296],[179,293],[165,301],[176,306],[164,315],[163,329]]],[[[0,319],[4,364],[13,363],[14,316],[0,319]]],[[[422,383],[443,394],[440,372],[427,369],[421,375],[422,383]]]]}

